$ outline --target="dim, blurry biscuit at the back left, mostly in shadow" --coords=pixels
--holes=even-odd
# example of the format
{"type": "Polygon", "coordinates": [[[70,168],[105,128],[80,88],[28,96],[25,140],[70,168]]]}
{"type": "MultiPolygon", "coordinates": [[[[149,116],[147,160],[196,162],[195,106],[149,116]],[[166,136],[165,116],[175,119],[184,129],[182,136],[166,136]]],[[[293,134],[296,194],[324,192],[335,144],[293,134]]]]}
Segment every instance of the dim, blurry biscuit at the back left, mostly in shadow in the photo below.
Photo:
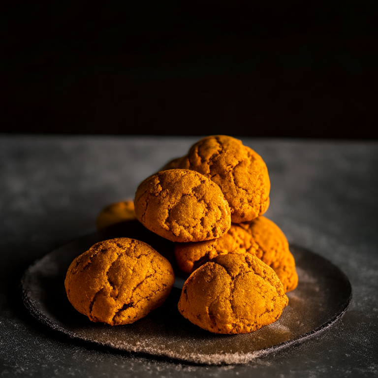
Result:
{"type": "Polygon", "coordinates": [[[109,227],[123,221],[136,219],[133,201],[114,202],[101,210],[97,217],[97,229],[109,227]]]}

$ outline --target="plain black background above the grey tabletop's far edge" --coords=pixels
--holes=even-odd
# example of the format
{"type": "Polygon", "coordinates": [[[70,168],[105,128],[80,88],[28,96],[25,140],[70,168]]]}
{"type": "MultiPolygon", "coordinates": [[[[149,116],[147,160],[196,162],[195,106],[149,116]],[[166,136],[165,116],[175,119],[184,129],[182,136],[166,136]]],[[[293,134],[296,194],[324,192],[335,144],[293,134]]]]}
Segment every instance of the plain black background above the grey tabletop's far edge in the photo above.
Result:
{"type": "Polygon", "coordinates": [[[1,2],[1,129],[377,138],[378,1],[1,2]]]}

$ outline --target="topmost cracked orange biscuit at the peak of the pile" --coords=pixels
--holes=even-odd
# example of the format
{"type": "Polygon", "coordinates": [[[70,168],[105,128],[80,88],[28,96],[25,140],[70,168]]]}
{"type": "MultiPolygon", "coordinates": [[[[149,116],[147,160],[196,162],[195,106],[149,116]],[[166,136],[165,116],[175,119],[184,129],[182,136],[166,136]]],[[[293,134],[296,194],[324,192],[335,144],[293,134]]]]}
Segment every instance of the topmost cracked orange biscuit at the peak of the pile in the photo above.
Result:
{"type": "Polygon", "coordinates": [[[263,159],[240,140],[208,136],[190,148],[188,158],[189,169],[220,186],[231,207],[233,223],[251,221],[268,209],[268,169],[263,159]]]}

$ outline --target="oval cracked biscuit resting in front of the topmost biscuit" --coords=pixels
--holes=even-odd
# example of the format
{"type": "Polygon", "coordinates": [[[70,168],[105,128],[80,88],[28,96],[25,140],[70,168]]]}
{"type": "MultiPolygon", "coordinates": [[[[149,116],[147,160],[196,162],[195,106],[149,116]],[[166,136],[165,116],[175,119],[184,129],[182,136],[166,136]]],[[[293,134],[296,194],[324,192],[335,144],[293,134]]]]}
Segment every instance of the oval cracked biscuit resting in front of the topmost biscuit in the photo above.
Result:
{"type": "Polygon", "coordinates": [[[219,238],[231,226],[231,211],[218,185],[188,169],[158,172],[135,193],[137,219],[173,242],[219,238]]]}

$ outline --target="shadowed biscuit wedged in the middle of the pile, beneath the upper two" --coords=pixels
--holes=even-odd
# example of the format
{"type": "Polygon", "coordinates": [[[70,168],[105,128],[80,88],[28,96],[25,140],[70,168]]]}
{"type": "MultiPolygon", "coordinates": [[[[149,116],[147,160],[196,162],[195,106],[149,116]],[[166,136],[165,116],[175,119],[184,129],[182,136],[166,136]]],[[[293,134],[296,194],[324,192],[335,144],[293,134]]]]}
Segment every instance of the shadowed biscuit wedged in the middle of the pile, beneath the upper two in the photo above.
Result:
{"type": "Polygon", "coordinates": [[[231,224],[231,228],[218,239],[196,243],[175,243],[175,256],[179,268],[185,273],[192,273],[202,264],[220,254],[238,250],[239,253],[256,253],[258,245],[252,236],[238,224],[231,224]]]}

